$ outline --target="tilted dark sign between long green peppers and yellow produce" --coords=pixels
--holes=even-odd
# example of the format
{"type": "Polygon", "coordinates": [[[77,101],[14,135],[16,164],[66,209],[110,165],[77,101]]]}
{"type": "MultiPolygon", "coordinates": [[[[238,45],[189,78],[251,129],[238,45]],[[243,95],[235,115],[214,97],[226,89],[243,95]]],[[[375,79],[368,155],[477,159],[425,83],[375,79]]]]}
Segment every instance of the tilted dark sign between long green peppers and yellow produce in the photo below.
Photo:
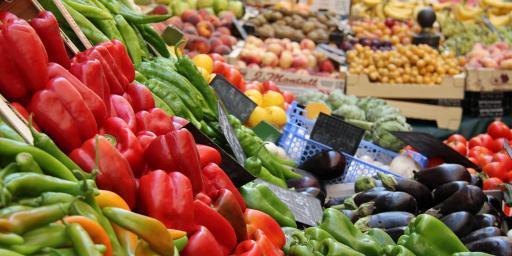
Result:
{"type": "Polygon", "coordinates": [[[249,119],[249,116],[251,116],[254,108],[256,108],[256,103],[233,86],[222,75],[216,75],[210,84],[219,99],[222,100],[224,106],[226,106],[228,112],[240,119],[242,123],[245,123],[247,119],[249,119]]]}

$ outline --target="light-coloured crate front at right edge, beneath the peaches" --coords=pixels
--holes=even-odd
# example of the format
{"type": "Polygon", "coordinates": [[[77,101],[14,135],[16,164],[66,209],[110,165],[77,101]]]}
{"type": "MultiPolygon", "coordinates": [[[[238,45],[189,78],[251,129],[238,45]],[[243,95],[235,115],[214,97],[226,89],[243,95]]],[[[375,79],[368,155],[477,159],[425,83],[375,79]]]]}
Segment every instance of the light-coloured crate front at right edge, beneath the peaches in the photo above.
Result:
{"type": "Polygon", "coordinates": [[[467,69],[466,91],[512,91],[512,70],[493,68],[467,69]]]}

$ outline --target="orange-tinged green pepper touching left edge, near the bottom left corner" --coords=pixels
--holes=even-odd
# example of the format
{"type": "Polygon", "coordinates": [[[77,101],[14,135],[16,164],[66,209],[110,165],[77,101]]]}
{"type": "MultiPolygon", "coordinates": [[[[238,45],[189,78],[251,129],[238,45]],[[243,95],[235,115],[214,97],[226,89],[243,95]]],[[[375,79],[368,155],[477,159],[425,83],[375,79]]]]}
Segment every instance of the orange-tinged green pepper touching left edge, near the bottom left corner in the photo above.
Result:
{"type": "Polygon", "coordinates": [[[69,203],[42,206],[19,211],[0,219],[0,232],[23,234],[28,230],[62,219],[68,214],[69,203]]]}

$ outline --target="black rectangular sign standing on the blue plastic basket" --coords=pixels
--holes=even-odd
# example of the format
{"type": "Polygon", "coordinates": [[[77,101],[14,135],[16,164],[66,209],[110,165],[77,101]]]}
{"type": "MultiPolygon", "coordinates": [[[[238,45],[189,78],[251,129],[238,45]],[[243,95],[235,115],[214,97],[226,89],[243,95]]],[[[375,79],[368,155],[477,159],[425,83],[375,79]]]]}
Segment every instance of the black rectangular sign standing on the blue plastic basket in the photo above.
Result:
{"type": "Polygon", "coordinates": [[[320,113],[311,130],[310,139],[334,150],[354,155],[363,139],[364,130],[340,118],[320,113]]]}

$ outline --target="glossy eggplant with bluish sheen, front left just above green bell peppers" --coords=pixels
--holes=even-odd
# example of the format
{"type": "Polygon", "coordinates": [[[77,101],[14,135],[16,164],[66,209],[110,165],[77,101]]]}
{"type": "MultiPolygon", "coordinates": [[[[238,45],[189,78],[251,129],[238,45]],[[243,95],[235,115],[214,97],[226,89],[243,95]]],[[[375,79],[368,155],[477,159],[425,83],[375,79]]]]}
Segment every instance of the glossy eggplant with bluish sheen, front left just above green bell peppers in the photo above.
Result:
{"type": "Polygon", "coordinates": [[[402,227],[407,226],[414,217],[414,214],[409,212],[383,212],[361,218],[356,222],[355,226],[360,230],[402,227]]]}

